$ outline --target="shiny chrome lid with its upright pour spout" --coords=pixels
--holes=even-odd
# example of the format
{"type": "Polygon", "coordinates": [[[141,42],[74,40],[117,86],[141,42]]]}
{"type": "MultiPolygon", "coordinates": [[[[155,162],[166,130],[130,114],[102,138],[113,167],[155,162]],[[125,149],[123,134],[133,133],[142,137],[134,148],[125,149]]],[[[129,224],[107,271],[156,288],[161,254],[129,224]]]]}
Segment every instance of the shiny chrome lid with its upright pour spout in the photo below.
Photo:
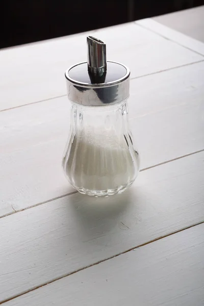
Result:
{"type": "Polygon", "coordinates": [[[106,61],[106,44],[87,37],[88,61],[65,71],[69,100],[85,106],[120,103],[129,97],[130,70],[106,61]]]}

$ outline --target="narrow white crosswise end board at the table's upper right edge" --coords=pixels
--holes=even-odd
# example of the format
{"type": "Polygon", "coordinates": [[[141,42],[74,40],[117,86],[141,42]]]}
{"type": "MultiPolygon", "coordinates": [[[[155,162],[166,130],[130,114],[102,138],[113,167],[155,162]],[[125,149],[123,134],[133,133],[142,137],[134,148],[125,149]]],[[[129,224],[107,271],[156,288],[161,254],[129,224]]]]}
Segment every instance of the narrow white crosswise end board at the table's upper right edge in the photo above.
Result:
{"type": "Polygon", "coordinates": [[[173,30],[169,27],[166,27],[166,25],[163,25],[155,21],[154,19],[146,18],[146,19],[138,20],[136,21],[136,24],[142,25],[142,27],[149,29],[150,31],[158,33],[159,35],[163,37],[166,37],[172,41],[175,41],[176,43],[179,43],[180,45],[184,47],[187,47],[201,55],[204,55],[204,43],[203,42],[197,39],[194,39],[188,35],[185,35],[181,32],[173,30]]]}

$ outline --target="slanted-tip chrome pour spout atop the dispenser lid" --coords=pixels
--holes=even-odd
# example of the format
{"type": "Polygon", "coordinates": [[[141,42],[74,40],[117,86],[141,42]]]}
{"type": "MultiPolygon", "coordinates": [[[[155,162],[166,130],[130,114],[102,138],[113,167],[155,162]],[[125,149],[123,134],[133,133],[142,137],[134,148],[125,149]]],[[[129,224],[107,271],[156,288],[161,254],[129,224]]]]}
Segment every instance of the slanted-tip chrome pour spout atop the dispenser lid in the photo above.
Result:
{"type": "Polygon", "coordinates": [[[102,76],[107,70],[106,44],[92,36],[87,37],[87,55],[89,74],[102,76]]]}

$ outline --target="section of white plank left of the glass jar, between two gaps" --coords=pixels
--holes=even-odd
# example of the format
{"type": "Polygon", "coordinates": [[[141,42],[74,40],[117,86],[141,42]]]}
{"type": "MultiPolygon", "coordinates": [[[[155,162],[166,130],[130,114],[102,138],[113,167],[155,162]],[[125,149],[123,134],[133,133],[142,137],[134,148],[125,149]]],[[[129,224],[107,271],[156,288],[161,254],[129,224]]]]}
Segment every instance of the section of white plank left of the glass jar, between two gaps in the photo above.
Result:
{"type": "Polygon", "coordinates": [[[1,215],[73,192],[61,167],[68,137],[67,98],[0,117],[1,215]]]}

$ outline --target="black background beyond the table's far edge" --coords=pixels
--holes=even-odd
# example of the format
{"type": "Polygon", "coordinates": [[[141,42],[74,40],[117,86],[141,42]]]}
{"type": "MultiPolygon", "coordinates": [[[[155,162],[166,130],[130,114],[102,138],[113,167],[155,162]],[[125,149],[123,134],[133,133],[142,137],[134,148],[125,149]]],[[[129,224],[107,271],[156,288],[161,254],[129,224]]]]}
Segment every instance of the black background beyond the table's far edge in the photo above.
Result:
{"type": "Polygon", "coordinates": [[[204,0],[1,0],[0,48],[203,5],[204,0]]]}

